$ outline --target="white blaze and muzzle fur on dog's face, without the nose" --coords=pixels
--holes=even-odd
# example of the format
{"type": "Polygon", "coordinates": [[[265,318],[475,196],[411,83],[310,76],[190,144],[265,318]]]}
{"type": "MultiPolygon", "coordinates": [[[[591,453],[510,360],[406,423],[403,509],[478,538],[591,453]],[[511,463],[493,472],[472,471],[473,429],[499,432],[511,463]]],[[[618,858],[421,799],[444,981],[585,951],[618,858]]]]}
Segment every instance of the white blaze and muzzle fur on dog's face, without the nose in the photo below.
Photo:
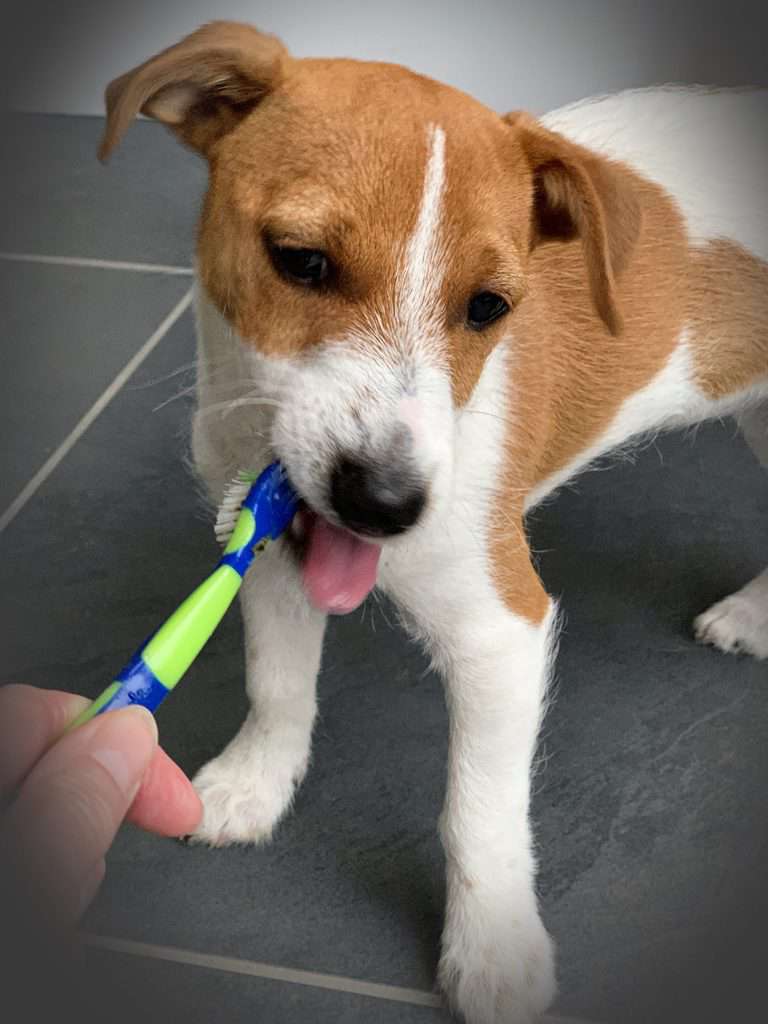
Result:
{"type": "Polygon", "coordinates": [[[283,367],[274,450],[309,505],[331,519],[340,452],[364,462],[408,461],[429,488],[430,506],[449,490],[453,404],[440,308],[445,133],[437,126],[427,132],[418,213],[400,242],[394,317],[374,313],[347,337],[283,367]],[[403,427],[413,441],[401,439],[403,427]]]}

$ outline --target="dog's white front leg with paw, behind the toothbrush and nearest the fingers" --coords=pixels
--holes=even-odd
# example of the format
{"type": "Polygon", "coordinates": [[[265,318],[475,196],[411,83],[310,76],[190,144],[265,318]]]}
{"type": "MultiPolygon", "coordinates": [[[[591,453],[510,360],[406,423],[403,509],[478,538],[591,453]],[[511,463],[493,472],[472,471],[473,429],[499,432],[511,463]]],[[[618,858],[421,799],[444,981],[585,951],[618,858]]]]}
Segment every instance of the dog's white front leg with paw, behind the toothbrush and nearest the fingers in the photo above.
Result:
{"type": "Polygon", "coordinates": [[[198,773],[201,843],[269,839],[309,760],[326,616],[310,607],[283,543],[259,555],[243,585],[251,709],[222,754],[198,773]]]}

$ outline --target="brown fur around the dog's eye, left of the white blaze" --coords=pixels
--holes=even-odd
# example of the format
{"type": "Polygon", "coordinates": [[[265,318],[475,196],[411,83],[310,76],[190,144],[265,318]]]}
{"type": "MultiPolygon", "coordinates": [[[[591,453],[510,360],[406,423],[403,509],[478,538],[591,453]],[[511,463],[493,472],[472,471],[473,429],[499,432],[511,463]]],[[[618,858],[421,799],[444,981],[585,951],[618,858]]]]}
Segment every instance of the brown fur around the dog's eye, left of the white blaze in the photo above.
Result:
{"type": "MultiPolygon", "coordinates": [[[[296,355],[375,316],[394,319],[396,271],[421,199],[426,126],[403,119],[400,144],[385,145],[368,106],[381,95],[372,95],[369,82],[368,101],[355,104],[354,67],[342,63],[296,61],[279,92],[220,141],[211,161],[199,237],[203,281],[241,336],[269,354],[296,355]],[[394,198],[393,180],[402,185],[394,198]],[[283,280],[268,239],[326,252],[330,286],[283,280]]],[[[380,77],[379,91],[387,78],[380,77]]]]}

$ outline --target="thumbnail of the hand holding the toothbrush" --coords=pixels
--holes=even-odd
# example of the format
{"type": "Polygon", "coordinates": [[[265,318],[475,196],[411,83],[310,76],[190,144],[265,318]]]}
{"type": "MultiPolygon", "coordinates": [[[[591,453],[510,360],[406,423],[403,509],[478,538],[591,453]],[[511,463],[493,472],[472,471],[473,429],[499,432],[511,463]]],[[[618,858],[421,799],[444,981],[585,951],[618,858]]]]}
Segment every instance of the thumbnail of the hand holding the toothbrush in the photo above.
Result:
{"type": "Polygon", "coordinates": [[[106,769],[121,792],[133,798],[157,742],[158,725],[145,708],[121,708],[103,715],[90,755],[106,769]]]}

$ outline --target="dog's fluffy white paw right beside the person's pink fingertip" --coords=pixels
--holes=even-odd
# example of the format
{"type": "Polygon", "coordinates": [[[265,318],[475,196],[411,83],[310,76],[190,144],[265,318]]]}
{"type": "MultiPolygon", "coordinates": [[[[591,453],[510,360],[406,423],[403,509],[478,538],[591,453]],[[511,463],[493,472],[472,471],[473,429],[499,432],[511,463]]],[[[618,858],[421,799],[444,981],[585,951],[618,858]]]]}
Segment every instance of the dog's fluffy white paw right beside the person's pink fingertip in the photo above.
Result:
{"type": "Polygon", "coordinates": [[[279,767],[267,767],[258,752],[239,759],[225,751],[209,761],[193,779],[203,817],[187,842],[229,846],[269,840],[291,806],[297,784],[291,773],[279,767]]]}

